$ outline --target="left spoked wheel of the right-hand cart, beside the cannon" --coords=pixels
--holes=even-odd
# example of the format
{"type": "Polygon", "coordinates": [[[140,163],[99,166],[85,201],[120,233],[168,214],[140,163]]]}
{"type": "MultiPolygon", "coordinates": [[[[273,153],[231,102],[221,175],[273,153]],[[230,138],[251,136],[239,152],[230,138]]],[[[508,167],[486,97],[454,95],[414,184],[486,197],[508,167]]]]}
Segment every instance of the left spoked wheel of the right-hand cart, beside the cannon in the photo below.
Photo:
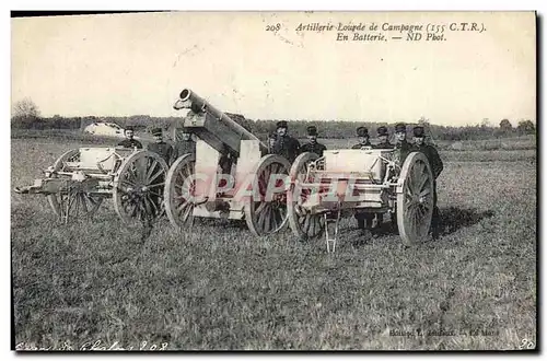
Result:
{"type": "Polygon", "coordinates": [[[319,156],[316,153],[306,152],[300,154],[292,164],[289,177],[291,187],[287,193],[287,207],[289,213],[289,224],[292,233],[300,240],[313,240],[325,231],[325,218],[323,214],[312,214],[306,212],[301,205],[311,196],[311,189],[300,187],[306,178],[307,168],[311,162],[319,156]]]}

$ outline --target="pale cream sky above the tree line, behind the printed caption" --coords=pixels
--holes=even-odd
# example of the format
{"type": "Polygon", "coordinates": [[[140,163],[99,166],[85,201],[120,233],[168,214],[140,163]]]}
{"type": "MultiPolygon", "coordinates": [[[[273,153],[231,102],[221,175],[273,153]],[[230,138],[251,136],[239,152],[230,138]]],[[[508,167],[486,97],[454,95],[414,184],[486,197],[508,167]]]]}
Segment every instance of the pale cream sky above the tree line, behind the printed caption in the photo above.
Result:
{"type": "MultiPolygon", "coordinates": [[[[361,32],[363,33],[363,32],[361,32]]],[[[424,32],[423,32],[424,33],[424,32]]],[[[346,33],[350,39],[351,33],[346,33]]],[[[391,39],[392,36],[403,39],[391,39]]],[[[251,119],[514,125],[536,114],[533,12],[176,12],[12,19],[12,103],[44,116],[178,116],[189,88],[251,119]],[[300,23],[477,22],[445,40],[336,42],[300,23]],[[278,33],[268,24],[280,23],[278,33]]]]}

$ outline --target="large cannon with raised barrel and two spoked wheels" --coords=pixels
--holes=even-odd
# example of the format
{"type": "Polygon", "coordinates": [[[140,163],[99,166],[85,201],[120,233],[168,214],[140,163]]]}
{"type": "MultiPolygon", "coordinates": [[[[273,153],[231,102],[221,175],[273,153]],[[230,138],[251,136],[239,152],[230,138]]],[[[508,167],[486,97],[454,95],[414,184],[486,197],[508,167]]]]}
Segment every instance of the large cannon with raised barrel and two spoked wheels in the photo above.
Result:
{"type": "MultiPolygon", "coordinates": [[[[179,156],[168,170],[165,212],[177,228],[195,217],[245,220],[255,235],[287,226],[284,178],[290,163],[206,100],[184,89],[174,105],[188,109],[175,125],[197,136],[196,154],[179,156]]],[[[173,138],[176,138],[175,136],[173,138]]]]}

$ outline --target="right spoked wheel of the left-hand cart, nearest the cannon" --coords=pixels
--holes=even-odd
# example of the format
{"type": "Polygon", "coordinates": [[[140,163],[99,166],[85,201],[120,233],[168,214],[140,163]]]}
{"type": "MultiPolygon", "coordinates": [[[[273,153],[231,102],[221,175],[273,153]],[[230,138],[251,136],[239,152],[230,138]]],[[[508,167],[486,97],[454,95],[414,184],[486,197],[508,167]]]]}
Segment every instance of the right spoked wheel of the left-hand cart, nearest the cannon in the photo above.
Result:
{"type": "Polygon", "coordinates": [[[138,151],[121,163],[114,178],[114,208],[126,222],[152,222],[163,214],[167,164],[156,153],[138,151]]]}

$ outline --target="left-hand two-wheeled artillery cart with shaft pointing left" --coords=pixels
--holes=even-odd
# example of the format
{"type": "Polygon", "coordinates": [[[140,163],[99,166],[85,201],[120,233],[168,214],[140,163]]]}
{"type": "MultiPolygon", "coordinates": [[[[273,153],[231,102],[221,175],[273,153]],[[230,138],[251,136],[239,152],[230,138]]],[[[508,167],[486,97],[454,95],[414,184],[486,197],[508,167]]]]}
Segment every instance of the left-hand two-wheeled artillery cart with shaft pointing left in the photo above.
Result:
{"type": "Polygon", "coordinates": [[[93,216],[108,198],[126,223],[150,222],[163,214],[167,164],[153,152],[118,147],[72,149],[44,173],[34,185],[14,190],[45,195],[65,223],[93,216]]]}

